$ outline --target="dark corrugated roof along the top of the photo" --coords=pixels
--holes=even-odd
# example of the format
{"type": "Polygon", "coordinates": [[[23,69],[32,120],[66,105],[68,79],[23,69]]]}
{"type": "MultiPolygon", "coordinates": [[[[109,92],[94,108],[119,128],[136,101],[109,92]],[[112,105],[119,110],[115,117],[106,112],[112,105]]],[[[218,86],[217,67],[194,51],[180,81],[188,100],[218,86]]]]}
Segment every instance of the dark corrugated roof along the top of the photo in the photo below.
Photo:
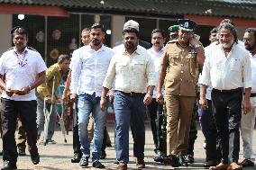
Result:
{"type": "Polygon", "coordinates": [[[70,12],[161,15],[197,14],[256,19],[256,0],[0,0],[5,4],[56,5],[70,12]]]}

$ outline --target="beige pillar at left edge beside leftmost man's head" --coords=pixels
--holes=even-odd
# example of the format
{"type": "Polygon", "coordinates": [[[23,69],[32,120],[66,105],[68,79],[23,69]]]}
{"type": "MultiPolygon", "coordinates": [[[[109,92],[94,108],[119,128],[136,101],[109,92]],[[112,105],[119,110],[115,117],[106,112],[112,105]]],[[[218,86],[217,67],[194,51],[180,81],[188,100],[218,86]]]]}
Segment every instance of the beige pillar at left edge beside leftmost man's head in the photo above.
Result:
{"type": "Polygon", "coordinates": [[[0,57],[7,49],[12,47],[12,35],[11,29],[13,24],[13,15],[12,14],[0,14],[0,57]]]}

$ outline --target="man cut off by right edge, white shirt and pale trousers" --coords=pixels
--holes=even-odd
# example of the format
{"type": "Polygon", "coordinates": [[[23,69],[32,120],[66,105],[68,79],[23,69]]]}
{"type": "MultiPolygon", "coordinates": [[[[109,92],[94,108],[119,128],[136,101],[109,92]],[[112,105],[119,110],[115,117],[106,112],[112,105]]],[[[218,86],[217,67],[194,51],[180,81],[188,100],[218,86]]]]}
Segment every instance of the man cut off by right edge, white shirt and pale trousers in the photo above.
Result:
{"type": "Polygon", "coordinates": [[[255,125],[256,112],[256,28],[248,28],[243,35],[245,49],[250,52],[251,60],[251,112],[242,114],[241,119],[241,136],[244,160],[239,164],[243,167],[254,166],[255,157],[252,150],[252,135],[255,125]]]}

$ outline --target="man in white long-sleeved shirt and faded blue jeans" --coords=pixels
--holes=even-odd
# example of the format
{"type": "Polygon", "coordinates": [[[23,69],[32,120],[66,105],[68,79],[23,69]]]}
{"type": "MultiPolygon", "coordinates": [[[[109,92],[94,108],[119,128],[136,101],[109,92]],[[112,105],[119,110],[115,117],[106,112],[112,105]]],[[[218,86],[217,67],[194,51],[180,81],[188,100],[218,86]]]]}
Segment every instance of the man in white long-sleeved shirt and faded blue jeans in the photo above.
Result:
{"type": "Polygon", "coordinates": [[[107,67],[114,52],[102,43],[104,35],[102,25],[95,23],[90,31],[90,45],[73,52],[70,98],[75,99],[78,95],[78,134],[83,154],[79,165],[82,167],[88,166],[90,157],[87,126],[92,112],[95,124],[92,162],[96,168],[105,168],[99,162],[105,128],[105,112],[101,111],[99,102],[107,67]]]}

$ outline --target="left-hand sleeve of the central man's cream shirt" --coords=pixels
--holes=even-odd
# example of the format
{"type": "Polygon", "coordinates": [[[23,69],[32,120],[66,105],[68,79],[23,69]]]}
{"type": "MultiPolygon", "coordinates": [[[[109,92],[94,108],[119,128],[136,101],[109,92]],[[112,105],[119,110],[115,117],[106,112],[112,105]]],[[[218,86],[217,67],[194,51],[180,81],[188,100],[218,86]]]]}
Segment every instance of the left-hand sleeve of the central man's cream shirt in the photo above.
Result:
{"type": "Polygon", "coordinates": [[[113,87],[115,77],[115,56],[111,58],[109,67],[107,69],[105,80],[103,82],[103,87],[111,89],[113,87]]]}

